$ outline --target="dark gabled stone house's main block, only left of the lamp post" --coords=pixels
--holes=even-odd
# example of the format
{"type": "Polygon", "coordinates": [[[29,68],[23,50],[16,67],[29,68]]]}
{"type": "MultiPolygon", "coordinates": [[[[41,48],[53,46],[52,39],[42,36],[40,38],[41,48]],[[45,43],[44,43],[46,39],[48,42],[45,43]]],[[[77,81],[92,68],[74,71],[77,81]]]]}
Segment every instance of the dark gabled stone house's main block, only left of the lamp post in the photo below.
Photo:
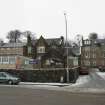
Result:
{"type": "Polygon", "coordinates": [[[63,67],[63,43],[63,37],[44,39],[41,36],[35,43],[35,59],[38,63],[34,68],[63,67]]]}

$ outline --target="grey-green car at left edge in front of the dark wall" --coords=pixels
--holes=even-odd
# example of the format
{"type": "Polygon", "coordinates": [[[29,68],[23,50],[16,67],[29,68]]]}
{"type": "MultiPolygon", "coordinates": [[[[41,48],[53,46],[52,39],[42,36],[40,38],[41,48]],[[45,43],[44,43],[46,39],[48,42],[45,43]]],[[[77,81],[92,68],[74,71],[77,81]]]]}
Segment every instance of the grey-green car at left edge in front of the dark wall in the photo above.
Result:
{"type": "Polygon", "coordinates": [[[9,85],[16,84],[18,85],[20,78],[15,77],[7,72],[0,72],[0,83],[6,83],[9,85]]]}

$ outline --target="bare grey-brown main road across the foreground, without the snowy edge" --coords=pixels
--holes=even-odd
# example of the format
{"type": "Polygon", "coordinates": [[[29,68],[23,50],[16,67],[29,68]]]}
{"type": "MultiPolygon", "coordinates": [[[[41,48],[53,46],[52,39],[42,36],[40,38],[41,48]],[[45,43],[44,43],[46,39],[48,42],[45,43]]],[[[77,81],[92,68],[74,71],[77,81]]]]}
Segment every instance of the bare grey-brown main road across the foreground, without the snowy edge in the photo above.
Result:
{"type": "Polygon", "coordinates": [[[105,105],[105,94],[0,86],[0,105],[105,105]]]}

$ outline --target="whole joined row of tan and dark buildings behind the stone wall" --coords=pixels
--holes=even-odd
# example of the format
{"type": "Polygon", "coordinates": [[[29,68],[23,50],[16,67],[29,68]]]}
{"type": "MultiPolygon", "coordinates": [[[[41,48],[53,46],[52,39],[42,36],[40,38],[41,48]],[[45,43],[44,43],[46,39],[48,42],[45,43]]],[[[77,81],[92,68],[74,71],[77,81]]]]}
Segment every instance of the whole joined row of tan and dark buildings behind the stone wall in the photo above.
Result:
{"type": "MultiPolygon", "coordinates": [[[[78,65],[78,48],[70,47],[68,50],[68,65],[78,65]]],[[[79,50],[78,50],[79,51],[79,50]]],[[[64,38],[32,40],[27,36],[27,42],[0,44],[0,69],[40,69],[65,68],[67,64],[64,38]]]]}

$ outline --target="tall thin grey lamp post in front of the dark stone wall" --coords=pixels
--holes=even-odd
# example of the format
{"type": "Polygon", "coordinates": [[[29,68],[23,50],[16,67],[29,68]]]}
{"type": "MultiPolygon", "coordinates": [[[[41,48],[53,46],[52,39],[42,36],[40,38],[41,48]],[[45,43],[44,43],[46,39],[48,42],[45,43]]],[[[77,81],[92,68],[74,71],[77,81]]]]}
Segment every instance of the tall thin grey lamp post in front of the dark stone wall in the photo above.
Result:
{"type": "Polygon", "coordinates": [[[66,62],[67,62],[67,66],[66,66],[66,81],[67,83],[69,83],[69,68],[68,68],[68,36],[67,36],[67,16],[66,13],[64,12],[64,17],[65,17],[65,32],[66,32],[66,54],[67,54],[67,58],[66,58],[66,62]]]}

